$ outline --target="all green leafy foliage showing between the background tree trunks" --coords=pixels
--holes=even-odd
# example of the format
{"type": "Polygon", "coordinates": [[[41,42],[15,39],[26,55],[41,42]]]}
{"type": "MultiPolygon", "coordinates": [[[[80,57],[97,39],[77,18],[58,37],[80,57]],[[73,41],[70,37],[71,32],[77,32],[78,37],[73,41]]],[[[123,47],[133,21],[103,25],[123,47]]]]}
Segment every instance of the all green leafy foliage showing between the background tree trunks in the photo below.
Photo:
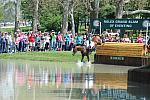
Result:
{"type": "MultiPolygon", "coordinates": [[[[23,18],[26,20],[32,20],[33,13],[33,0],[22,0],[21,10],[23,18]]],[[[63,1],[64,0],[39,0],[39,21],[40,29],[43,31],[50,30],[61,30],[62,16],[63,16],[63,1]]],[[[94,5],[90,5],[91,0],[74,0],[74,19],[76,28],[79,26],[80,22],[85,22],[90,18],[91,8],[94,5]],[[90,6],[89,6],[90,5],[90,6]]],[[[94,0],[92,0],[93,2],[94,0]]],[[[115,18],[116,5],[118,0],[100,0],[100,11],[99,18],[115,18]]],[[[138,9],[150,10],[150,0],[130,0],[124,5],[124,11],[134,11],[138,9]]],[[[1,13],[1,11],[0,11],[1,13]]],[[[0,14],[1,15],[1,14],[0,14]]],[[[150,18],[149,14],[135,14],[126,15],[125,18],[136,18],[137,16],[142,18],[150,18]]],[[[70,19],[69,19],[69,22],[70,19]]]]}

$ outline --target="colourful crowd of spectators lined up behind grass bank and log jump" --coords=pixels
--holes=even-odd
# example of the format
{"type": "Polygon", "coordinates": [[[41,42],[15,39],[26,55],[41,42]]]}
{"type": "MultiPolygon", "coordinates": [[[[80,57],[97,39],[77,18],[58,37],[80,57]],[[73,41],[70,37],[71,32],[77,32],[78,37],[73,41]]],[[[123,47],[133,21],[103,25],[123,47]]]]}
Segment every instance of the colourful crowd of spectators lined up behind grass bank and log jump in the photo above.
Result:
{"type": "MultiPolygon", "coordinates": [[[[86,45],[87,47],[94,42],[133,42],[128,34],[121,38],[119,34],[93,35],[72,34],[70,31],[66,34],[60,32],[17,32],[12,36],[8,32],[0,32],[0,53],[26,52],[26,51],[71,51],[75,45],[86,45]]],[[[145,39],[140,33],[136,41],[144,43],[145,39]]]]}

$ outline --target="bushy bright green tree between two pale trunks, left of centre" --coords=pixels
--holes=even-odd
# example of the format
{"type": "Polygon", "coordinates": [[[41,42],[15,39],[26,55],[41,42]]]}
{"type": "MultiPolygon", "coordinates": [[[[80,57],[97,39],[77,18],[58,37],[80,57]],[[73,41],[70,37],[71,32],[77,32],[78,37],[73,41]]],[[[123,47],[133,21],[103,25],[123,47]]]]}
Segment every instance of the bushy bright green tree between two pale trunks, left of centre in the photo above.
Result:
{"type": "Polygon", "coordinates": [[[43,0],[39,3],[39,19],[44,31],[60,31],[62,8],[57,0],[43,0]]]}

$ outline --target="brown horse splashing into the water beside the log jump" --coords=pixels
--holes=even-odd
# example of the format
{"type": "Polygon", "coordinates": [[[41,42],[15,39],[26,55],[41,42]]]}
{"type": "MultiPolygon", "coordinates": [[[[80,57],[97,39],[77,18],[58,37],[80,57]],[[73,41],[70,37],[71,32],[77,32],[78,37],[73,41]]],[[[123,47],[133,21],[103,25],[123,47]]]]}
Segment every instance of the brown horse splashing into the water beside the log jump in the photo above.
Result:
{"type": "MultiPolygon", "coordinates": [[[[92,42],[91,44],[93,44],[94,42],[92,42]]],[[[77,53],[77,51],[81,52],[82,58],[81,58],[81,62],[83,62],[84,56],[87,57],[88,62],[90,61],[90,57],[89,55],[91,54],[91,52],[94,50],[94,45],[92,46],[86,46],[86,45],[76,45],[73,47],[73,56],[77,53]]]]}

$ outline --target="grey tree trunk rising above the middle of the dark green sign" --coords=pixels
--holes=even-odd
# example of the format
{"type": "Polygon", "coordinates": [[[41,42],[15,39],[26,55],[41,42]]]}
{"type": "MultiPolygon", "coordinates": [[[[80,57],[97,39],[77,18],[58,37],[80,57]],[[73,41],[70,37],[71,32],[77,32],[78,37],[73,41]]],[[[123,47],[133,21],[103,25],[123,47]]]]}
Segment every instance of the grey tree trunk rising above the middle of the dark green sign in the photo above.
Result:
{"type": "Polygon", "coordinates": [[[116,9],[116,18],[121,19],[123,17],[124,0],[119,0],[116,9]]]}

